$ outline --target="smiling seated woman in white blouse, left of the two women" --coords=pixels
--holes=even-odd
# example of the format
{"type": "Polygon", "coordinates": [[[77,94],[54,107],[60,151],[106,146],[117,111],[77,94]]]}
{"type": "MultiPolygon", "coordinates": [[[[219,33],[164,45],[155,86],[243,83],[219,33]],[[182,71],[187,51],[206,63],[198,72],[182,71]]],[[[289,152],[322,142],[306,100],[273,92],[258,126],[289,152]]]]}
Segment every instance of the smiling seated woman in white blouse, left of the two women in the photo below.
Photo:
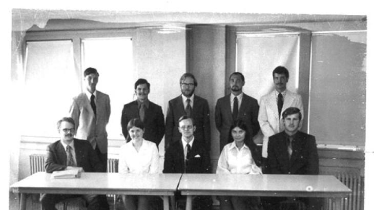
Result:
{"type": "MultiPolygon", "coordinates": [[[[121,146],[119,151],[119,173],[143,174],[158,173],[158,150],[155,143],[143,139],[144,124],[134,118],[127,124],[131,140],[121,146]]],[[[147,196],[124,195],[127,210],[149,209],[147,196]]]]}

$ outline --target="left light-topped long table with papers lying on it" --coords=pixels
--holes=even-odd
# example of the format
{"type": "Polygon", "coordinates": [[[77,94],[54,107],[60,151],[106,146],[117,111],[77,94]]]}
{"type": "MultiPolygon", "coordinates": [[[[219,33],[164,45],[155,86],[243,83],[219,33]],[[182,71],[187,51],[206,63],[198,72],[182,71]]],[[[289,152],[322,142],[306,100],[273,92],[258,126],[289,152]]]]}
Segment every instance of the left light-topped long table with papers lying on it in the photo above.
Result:
{"type": "Polygon", "coordinates": [[[169,209],[181,174],[82,173],[80,178],[53,179],[45,172],[35,173],[10,187],[20,193],[19,209],[26,209],[27,194],[123,194],[161,196],[169,209]]]}

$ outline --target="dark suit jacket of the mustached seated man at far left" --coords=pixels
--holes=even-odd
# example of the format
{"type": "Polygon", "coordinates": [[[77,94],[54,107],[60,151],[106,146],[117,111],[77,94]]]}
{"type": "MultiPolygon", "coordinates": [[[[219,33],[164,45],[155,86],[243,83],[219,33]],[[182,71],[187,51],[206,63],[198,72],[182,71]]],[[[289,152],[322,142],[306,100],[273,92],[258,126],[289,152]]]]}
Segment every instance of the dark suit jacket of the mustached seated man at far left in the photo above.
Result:
{"type": "MultiPolygon", "coordinates": [[[[74,139],[73,141],[77,166],[82,167],[85,172],[101,172],[101,162],[91,144],[86,140],[74,139]]],[[[47,159],[44,167],[47,173],[66,169],[66,151],[61,140],[47,146],[47,159]]]]}

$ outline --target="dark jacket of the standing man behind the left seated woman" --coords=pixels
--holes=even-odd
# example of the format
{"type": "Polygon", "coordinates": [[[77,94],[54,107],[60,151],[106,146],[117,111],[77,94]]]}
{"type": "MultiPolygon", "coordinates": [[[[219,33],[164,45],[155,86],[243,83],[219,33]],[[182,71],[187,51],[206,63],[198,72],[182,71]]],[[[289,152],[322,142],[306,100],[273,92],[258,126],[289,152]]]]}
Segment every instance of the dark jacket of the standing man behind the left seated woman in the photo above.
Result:
{"type": "MultiPolygon", "coordinates": [[[[139,118],[138,102],[136,100],[125,104],[122,110],[122,134],[127,140],[130,140],[127,124],[133,118],[139,118]]],[[[158,145],[165,133],[165,122],[161,107],[151,101],[149,102],[149,107],[144,114],[144,128],[145,132],[143,138],[158,145]]]]}

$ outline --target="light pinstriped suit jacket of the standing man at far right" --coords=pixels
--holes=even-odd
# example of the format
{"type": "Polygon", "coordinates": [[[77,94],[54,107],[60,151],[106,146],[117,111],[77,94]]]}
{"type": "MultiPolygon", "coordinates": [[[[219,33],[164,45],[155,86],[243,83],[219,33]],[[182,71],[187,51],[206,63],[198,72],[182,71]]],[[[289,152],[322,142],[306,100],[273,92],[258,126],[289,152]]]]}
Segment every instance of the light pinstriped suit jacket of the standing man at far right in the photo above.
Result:
{"type": "MultiPolygon", "coordinates": [[[[289,107],[297,107],[300,109],[302,119],[304,118],[304,109],[301,96],[286,90],[284,96],[282,112],[289,107]]],[[[280,117],[282,118],[282,116],[280,117]]],[[[269,136],[273,136],[284,130],[282,120],[278,115],[277,97],[274,91],[264,95],[260,100],[260,110],[258,113],[258,122],[260,123],[262,134],[264,135],[262,144],[262,156],[267,157],[267,142],[269,136]]],[[[302,119],[300,121],[300,128],[302,126],[302,119]]]]}

